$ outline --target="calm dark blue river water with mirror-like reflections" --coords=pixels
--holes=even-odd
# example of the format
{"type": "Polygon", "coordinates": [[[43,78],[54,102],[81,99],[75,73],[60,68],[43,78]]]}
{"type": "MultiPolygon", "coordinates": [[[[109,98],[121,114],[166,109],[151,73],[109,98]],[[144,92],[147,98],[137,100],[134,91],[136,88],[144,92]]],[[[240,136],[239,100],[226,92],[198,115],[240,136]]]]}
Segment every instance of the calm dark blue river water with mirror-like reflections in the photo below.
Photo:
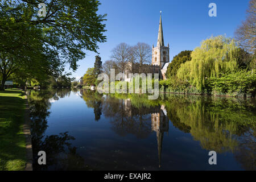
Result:
{"type": "Polygon", "coordinates": [[[206,96],[28,91],[35,170],[256,169],[256,104],[206,96]],[[47,165],[39,166],[38,151],[47,165]],[[209,151],[217,165],[209,165],[209,151]]]}

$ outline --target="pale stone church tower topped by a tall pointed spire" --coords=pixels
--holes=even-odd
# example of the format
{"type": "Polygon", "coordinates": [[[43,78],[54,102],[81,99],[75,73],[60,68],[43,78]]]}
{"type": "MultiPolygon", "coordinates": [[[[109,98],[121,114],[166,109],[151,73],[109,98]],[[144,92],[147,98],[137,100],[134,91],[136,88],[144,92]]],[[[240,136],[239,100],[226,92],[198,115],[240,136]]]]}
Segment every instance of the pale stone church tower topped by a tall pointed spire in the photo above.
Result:
{"type": "Polygon", "coordinates": [[[160,69],[163,69],[164,64],[170,61],[169,51],[169,43],[167,47],[164,46],[162,18],[160,14],[158,43],[156,47],[154,45],[152,46],[152,65],[159,65],[160,69]]]}

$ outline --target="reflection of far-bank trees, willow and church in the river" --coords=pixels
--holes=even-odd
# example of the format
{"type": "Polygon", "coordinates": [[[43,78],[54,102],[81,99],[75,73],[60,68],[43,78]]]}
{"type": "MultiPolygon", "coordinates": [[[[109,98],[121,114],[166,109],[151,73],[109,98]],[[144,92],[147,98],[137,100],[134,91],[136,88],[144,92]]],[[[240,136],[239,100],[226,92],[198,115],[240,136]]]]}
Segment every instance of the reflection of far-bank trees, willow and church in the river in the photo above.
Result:
{"type": "Polygon", "coordinates": [[[159,166],[163,134],[168,134],[170,120],[177,129],[200,141],[201,148],[218,154],[232,152],[243,168],[256,168],[253,99],[162,94],[158,100],[148,100],[138,94],[93,94],[97,92],[83,93],[88,98],[86,104],[101,100],[103,114],[121,137],[133,134],[147,138],[151,131],[156,132],[159,166]]]}

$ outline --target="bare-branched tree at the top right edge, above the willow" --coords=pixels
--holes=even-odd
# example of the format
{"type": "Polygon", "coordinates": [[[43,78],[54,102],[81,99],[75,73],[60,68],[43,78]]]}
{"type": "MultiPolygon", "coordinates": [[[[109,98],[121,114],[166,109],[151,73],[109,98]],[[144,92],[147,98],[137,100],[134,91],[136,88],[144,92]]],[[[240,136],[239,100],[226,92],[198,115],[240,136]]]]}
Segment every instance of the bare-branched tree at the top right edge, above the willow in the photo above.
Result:
{"type": "Polygon", "coordinates": [[[248,52],[255,53],[256,47],[256,0],[249,2],[249,9],[246,10],[246,20],[238,27],[236,38],[241,46],[248,52]]]}

